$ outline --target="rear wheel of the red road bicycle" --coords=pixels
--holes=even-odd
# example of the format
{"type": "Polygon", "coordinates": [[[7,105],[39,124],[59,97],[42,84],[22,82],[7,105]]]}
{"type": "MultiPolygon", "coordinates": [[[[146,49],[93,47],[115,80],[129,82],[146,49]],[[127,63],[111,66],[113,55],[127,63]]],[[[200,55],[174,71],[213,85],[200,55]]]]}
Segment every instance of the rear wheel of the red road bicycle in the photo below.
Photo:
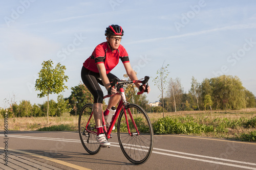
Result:
{"type": "MultiPolygon", "coordinates": [[[[101,148],[100,144],[96,140],[96,134],[89,133],[86,130],[86,125],[92,114],[92,109],[93,109],[92,104],[86,104],[82,107],[82,110],[79,114],[79,119],[78,119],[78,130],[79,130],[79,137],[82,142],[83,148],[89,154],[95,155],[100,151],[100,148],[101,148]]],[[[90,128],[91,131],[94,131],[97,133],[97,130],[95,127],[96,127],[95,120],[94,120],[94,116],[92,115],[88,128],[90,128]]]]}

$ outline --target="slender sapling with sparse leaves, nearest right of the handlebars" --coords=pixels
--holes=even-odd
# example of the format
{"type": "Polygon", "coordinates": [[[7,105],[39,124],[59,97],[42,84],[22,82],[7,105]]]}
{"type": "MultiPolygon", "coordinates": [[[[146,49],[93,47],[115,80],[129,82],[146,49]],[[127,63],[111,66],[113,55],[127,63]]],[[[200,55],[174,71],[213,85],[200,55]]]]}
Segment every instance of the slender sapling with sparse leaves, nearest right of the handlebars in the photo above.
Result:
{"type": "MultiPolygon", "coordinates": [[[[164,62],[163,62],[163,65],[164,65],[164,62]]],[[[167,82],[168,82],[168,74],[169,74],[169,71],[167,70],[167,66],[169,64],[167,64],[167,66],[163,66],[157,70],[157,77],[153,80],[155,82],[155,85],[157,86],[157,88],[161,91],[161,94],[160,94],[160,98],[162,98],[162,108],[163,108],[163,117],[164,117],[164,102],[163,102],[163,94],[164,94],[164,91],[165,91],[165,87],[167,85],[167,82]]]]}

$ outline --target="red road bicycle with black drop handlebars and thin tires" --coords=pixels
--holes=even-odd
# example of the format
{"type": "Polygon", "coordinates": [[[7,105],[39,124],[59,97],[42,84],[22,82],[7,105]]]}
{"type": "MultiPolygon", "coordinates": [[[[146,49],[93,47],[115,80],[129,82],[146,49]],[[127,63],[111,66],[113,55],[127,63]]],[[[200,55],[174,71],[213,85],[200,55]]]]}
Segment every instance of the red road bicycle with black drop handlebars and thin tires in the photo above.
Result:
{"type": "MultiPolygon", "coordinates": [[[[102,114],[103,130],[107,139],[112,138],[111,132],[118,118],[117,136],[120,148],[124,156],[134,164],[142,164],[150,157],[153,150],[154,132],[150,118],[148,118],[145,110],[137,104],[126,102],[123,86],[142,83],[144,87],[147,87],[148,80],[149,77],[147,76],[145,76],[144,80],[134,81],[115,79],[111,84],[117,88],[118,92],[114,95],[121,95],[121,100],[108,129],[106,128],[104,116],[102,114]]],[[[137,94],[142,94],[143,92],[144,90],[137,94]]],[[[109,98],[110,96],[112,95],[105,95],[104,99],[109,98]]],[[[94,155],[100,151],[101,146],[96,140],[97,130],[92,108],[92,104],[83,106],[79,114],[78,129],[84,149],[89,154],[94,155]]]]}

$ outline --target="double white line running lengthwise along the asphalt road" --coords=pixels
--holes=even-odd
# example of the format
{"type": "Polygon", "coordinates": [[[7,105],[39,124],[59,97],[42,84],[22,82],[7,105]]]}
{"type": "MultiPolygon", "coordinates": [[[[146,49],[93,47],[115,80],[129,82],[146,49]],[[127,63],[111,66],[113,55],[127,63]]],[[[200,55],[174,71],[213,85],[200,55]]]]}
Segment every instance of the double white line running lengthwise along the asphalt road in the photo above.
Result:
{"type": "MultiPolygon", "coordinates": [[[[0,134],[0,136],[4,136],[4,135],[0,134]]],[[[34,137],[34,136],[23,136],[23,135],[8,135],[8,137],[37,139],[37,140],[53,140],[53,141],[64,141],[64,142],[78,142],[78,143],[81,142],[78,139],[34,137]]],[[[117,143],[117,142],[111,142],[111,146],[112,147],[120,147],[119,143],[117,143]],[[117,144],[117,145],[115,145],[115,144],[117,144]]],[[[233,162],[233,163],[240,163],[240,164],[247,164],[247,165],[256,166],[256,163],[251,163],[251,162],[244,162],[244,161],[223,159],[223,158],[210,157],[210,156],[204,156],[204,155],[190,154],[190,153],[171,151],[171,150],[165,150],[165,149],[160,149],[160,148],[154,148],[153,151],[152,151],[152,153],[159,154],[159,155],[173,156],[173,157],[178,157],[178,158],[183,158],[183,159],[190,159],[190,160],[196,160],[196,161],[202,161],[202,162],[215,163],[215,164],[220,164],[220,165],[227,165],[227,166],[239,167],[239,168],[244,168],[244,169],[254,169],[254,170],[256,170],[255,167],[249,167],[249,166],[243,166],[243,165],[237,165],[237,164],[231,164],[231,163],[224,163],[224,162],[220,162],[220,161],[212,161],[212,160],[207,160],[207,159],[199,159],[199,158],[193,158],[193,157],[187,157],[187,156],[181,156],[181,155],[174,155],[174,154],[168,154],[168,153],[164,153],[164,152],[170,152],[170,153],[182,154],[182,155],[187,155],[187,156],[201,157],[201,158],[207,158],[207,159],[215,159],[215,160],[220,160],[220,161],[227,161],[227,162],[233,162]],[[157,151],[154,151],[154,150],[157,150],[157,151]],[[158,152],[158,151],[163,151],[163,152],[158,152]]]]}

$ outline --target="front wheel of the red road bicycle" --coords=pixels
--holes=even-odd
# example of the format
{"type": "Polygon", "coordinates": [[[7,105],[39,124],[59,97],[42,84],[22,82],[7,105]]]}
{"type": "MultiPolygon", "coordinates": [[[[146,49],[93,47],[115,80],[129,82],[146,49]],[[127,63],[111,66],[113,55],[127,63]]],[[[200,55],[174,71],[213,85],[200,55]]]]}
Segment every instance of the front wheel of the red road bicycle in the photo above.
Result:
{"type": "Polygon", "coordinates": [[[130,132],[127,130],[124,110],[122,109],[118,118],[117,135],[120,148],[124,156],[134,164],[145,163],[153,150],[154,132],[150,122],[150,118],[139,105],[129,104],[125,106],[127,120],[129,122],[130,132]],[[132,119],[128,114],[131,111],[139,134],[132,123],[132,119]]]}

